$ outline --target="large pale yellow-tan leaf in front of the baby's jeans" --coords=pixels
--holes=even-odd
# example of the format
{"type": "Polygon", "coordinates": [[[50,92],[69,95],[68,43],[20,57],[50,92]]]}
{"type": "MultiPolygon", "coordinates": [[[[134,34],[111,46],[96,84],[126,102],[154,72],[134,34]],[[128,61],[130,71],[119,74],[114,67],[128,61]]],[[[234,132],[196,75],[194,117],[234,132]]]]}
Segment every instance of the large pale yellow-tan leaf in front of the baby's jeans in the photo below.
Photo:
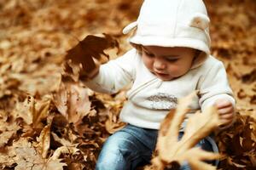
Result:
{"type": "Polygon", "coordinates": [[[183,138],[178,141],[180,125],[194,96],[195,94],[190,94],[188,97],[180,99],[176,111],[171,111],[162,122],[156,144],[158,156],[152,160],[154,168],[164,169],[174,161],[179,164],[188,161],[194,169],[216,169],[203,161],[217,159],[218,154],[193,148],[195,144],[218,127],[219,119],[216,109],[211,107],[203,113],[198,112],[189,116],[183,138]]]}

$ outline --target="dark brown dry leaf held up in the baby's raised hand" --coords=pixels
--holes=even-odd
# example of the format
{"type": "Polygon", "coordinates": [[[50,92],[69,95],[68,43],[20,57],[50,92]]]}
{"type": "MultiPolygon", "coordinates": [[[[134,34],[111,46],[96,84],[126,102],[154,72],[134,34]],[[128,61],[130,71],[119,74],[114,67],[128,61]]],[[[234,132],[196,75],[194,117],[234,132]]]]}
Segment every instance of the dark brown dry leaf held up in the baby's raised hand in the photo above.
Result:
{"type": "Polygon", "coordinates": [[[71,71],[69,67],[79,65],[79,78],[82,80],[92,79],[99,72],[102,59],[109,59],[108,54],[104,53],[104,50],[108,48],[119,48],[119,43],[108,34],[103,34],[103,37],[89,35],[67,51],[64,70],[72,72],[76,69],[71,71]]]}

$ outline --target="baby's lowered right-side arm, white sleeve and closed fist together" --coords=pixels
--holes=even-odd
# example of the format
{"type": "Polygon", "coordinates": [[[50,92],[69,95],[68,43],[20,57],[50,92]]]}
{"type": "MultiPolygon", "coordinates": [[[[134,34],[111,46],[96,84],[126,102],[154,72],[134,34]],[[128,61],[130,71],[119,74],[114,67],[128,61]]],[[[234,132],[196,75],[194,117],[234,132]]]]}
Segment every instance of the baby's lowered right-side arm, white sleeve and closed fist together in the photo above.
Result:
{"type": "Polygon", "coordinates": [[[230,88],[226,71],[222,62],[211,65],[212,68],[199,82],[199,103],[204,110],[209,105],[215,105],[223,126],[229,126],[235,120],[235,99],[230,88]]]}

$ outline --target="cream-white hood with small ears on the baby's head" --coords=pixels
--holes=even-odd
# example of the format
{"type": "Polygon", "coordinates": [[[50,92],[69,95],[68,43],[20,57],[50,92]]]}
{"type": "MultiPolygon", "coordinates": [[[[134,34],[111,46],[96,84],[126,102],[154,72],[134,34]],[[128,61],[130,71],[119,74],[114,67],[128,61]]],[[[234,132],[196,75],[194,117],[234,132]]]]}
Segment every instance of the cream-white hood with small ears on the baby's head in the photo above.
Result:
{"type": "Polygon", "coordinates": [[[134,47],[161,46],[195,48],[201,54],[192,68],[200,66],[210,54],[209,18],[202,0],[145,0],[137,21],[125,26],[133,31],[134,47]]]}

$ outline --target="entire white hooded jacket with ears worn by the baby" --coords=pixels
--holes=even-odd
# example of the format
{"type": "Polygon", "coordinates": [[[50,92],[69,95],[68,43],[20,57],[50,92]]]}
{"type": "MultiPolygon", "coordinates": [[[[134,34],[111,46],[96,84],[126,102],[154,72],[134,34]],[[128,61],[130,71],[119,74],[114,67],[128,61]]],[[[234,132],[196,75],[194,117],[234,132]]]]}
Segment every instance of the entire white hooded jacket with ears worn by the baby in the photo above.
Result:
{"type": "Polygon", "coordinates": [[[194,90],[199,90],[199,97],[191,105],[192,114],[217,99],[229,99],[235,105],[224,65],[210,55],[208,25],[201,0],[145,0],[137,21],[124,29],[124,33],[134,31],[130,42],[135,48],[101,65],[99,74],[86,85],[113,94],[131,84],[120,118],[137,127],[159,129],[177,99],[194,90]],[[185,75],[162,81],[143,64],[139,45],[195,48],[201,54],[185,75]]]}

